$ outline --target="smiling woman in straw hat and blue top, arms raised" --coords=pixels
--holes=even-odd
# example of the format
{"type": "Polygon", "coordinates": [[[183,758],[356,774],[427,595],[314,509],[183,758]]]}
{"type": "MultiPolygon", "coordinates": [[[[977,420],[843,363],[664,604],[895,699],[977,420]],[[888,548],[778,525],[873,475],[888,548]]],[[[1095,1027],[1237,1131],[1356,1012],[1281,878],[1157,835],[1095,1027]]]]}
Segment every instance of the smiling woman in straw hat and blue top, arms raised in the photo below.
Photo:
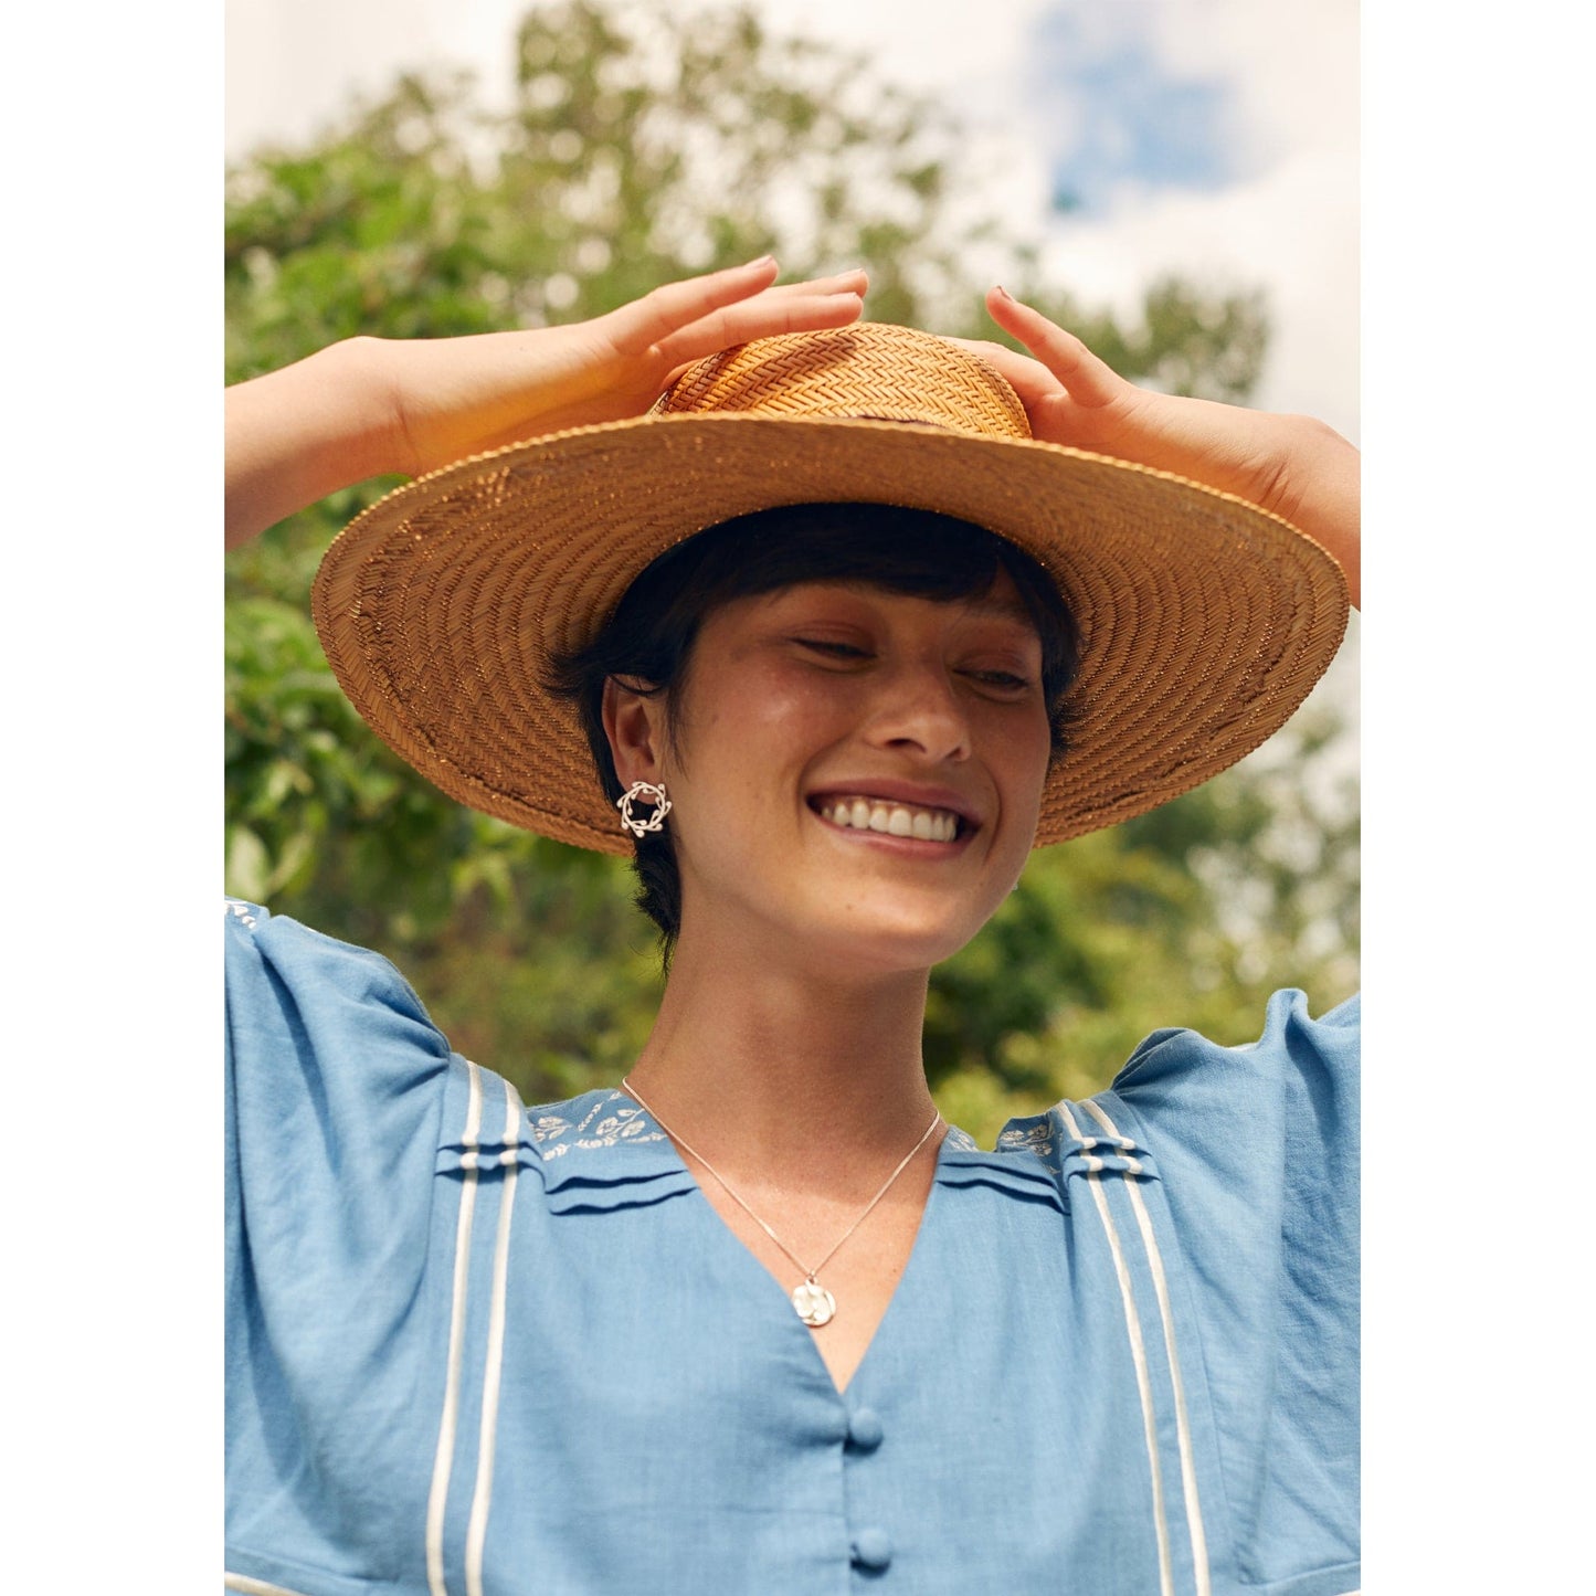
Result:
{"type": "Polygon", "coordinates": [[[230,394],[230,539],[418,477],[322,567],[340,681],[450,795],[635,844],[670,972],[624,1082],[525,1109],[230,905],[228,1585],[1350,1591],[1355,1010],[1156,1033],[996,1152],[919,1034],[1031,846],[1299,702],[1355,453],[1002,290],[1034,359],[774,276],[230,394]]]}

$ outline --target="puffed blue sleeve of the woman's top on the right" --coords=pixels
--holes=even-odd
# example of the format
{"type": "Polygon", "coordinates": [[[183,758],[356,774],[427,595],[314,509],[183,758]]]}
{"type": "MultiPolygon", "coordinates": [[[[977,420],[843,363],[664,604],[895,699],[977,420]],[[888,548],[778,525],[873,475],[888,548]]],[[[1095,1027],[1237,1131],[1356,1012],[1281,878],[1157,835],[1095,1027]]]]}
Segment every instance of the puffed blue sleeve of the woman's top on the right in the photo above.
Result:
{"type": "Polygon", "coordinates": [[[1282,1596],[1357,1572],[1358,1042],[1358,999],[1282,991],[1258,1042],[1159,1031],[1109,1093],[1162,1173],[1237,1572],[1282,1596]]]}

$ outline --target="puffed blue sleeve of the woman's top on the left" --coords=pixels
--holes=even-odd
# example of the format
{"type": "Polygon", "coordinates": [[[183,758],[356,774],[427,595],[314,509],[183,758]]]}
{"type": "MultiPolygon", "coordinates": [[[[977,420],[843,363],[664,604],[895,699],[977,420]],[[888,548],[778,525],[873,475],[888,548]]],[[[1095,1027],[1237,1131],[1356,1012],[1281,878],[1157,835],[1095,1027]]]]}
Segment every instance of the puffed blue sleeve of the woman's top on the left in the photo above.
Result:
{"type": "Polygon", "coordinates": [[[463,1061],[386,959],[236,902],[227,940],[230,1566],[397,1578],[436,1446],[434,1165],[463,1061]]]}

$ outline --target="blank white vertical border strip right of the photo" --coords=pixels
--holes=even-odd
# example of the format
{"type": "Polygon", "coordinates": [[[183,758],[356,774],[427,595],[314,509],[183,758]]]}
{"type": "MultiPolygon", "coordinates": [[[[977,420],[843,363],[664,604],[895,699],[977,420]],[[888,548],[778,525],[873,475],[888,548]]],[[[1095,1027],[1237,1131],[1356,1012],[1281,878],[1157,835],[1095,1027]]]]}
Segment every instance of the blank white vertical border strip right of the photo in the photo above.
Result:
{"type": "Polygon", "coordinates": [[[1591,19],[1363,8],[1365,1577],[1574,1590],[1596,1420],[1591,19]],[[1523,1109],[1518,1156],[1481,1138],[1523,1109]],[[1534,1223],[1526,1224],[1526,1215],[1534,1223]]]}

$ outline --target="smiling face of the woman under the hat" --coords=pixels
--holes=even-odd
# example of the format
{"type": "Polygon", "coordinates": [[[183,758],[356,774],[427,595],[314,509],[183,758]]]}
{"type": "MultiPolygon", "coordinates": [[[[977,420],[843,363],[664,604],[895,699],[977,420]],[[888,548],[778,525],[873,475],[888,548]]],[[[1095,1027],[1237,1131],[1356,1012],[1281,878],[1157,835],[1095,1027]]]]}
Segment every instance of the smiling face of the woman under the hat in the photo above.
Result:
{"type": "Polygon", "coordinates": [[[1041,659],[1007,575],[953,603],[806,583],[715,610],[661,755],[683,943],[705,924],[857,972],[956,953],[1036,835],[1041,659]]]}

